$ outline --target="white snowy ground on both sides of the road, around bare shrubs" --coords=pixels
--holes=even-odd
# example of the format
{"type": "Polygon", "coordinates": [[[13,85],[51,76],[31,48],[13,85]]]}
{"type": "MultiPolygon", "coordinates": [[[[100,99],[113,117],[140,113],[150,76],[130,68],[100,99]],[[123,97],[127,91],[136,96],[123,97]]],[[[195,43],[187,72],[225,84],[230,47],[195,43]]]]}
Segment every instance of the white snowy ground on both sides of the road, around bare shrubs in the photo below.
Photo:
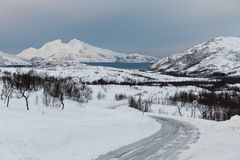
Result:
{"type": "MultiPolygon", "coordinates": [[[[1,86],[1,84],[0,84],[1,86]]],[[[153,99],[153,113],[185,121],[200,130],[200,139],[180,154],[180,160],[239,160],[240,118],[214,122],[184,117],[166,98],[198,87],[91,86],[93,99],[87,104],[65,101],[65,109],[43,106],[42,93],[30,97],[30,111],[23,99],[11,99],[9,108],[0,101],[0,159],[3,160],[92,160],[111,150],[148,137],[161,125],[129,108],[127,100],[116,101],[115,94],[140,95],[153,99]],[[104,98],[98,100],[98,93],[104,98]],[[159,114],[161,113],[161,114],[159,114]]]]}

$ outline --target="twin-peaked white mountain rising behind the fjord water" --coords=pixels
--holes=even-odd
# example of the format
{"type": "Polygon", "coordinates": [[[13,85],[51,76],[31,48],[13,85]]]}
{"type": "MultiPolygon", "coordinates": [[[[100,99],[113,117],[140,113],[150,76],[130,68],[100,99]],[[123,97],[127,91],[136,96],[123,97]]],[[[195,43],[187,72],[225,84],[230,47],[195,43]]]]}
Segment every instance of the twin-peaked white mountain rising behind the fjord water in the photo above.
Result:
{"type": "Polygon", "coordinates": [[[158,59],[140,54],[125,54],[94,47],[77,39],[69,43],[55,40],[40,49],[29,48],[17,55],[27,60],[79,62],[156,62],[158,59]]]}

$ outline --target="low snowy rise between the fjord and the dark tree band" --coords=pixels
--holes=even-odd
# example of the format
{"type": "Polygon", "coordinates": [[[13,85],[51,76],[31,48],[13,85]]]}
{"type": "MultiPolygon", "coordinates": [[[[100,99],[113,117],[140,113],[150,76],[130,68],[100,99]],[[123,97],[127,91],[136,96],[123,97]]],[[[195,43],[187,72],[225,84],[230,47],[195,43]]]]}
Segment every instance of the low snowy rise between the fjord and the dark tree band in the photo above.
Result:
{"type": "Polygon", "coordinates": [[[21,72],[27,72],[31,69],[40,73],[47,74],[49,76],[60,76],[60,77],[73,77],[73,78],[83,78],[87,82],[97,81],[99,79],[104,79],[106,81],[116,81],[116,82],[171,82],[171,81],[201,81],[208,80],[206,78],[188,78],[188,77],[174,77],[163,75],[161,73],[143,72],[139,70],[128,70],[128,69],[116,69],[111,67],[101,67],[101,66],[88,66],[85,64],[69,64],[66,63],[59,65],[59,63],[37,67],[37,68],[0,68],[2,72],[11,71],[16,72],[20,70],[21,72]]]}

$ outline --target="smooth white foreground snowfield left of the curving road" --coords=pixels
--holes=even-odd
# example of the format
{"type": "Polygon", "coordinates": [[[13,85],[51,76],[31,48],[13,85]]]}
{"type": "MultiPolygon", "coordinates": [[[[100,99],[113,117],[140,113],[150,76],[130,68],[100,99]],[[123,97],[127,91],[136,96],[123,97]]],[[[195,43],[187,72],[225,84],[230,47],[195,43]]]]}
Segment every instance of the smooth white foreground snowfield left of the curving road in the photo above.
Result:
{"type": "MultiPolygon", "coordinates": [[[[67,101],[65,110],[42,105],[41,94],[33,94],[30,111],[23,99],[0,106],[0,159],[3,160],[91,160],[158,131],[161,125],[129,107],[91,101],[79,105],[67,101]]],[[[122,103],[122,102],[120,102],[122,103]]]]}

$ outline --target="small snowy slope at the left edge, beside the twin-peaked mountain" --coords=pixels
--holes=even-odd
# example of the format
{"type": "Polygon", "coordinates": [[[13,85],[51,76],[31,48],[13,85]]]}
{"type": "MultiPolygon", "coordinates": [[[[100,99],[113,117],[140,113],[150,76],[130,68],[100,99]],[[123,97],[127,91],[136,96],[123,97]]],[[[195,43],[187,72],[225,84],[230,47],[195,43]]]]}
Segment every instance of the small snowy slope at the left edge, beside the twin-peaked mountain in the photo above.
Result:
{"type": "Polygon", "coordinates": [[[6,66],[29,66],[31,65],[29,62],[16,57],[14,55],[6,54],[3,52],[0,52],[0,66],[6,67],[6,66]]]}

